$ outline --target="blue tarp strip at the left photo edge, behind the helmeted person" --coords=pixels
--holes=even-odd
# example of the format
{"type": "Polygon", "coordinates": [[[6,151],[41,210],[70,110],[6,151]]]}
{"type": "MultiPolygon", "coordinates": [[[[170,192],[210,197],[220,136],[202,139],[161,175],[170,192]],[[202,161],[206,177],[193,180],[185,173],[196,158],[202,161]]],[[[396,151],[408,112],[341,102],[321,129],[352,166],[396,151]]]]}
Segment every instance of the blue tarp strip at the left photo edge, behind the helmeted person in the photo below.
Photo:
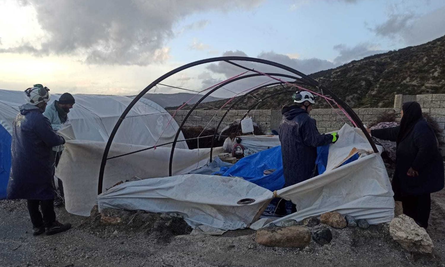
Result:
{"type": "Polygon", "coordinates": [[[0,125],[0,199],[6,198],[11,171],[11,135],[0,125]]]}

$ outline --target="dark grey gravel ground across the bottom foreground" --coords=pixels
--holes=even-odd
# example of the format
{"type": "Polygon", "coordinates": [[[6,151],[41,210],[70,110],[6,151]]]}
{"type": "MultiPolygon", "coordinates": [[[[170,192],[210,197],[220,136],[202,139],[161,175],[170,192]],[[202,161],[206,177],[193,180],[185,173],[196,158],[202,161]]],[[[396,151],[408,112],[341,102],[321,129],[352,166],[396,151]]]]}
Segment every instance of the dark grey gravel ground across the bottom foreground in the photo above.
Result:
{"type": "Polygon", "coordinates": [[[445,266],[445,213],[436,203],[429,229],[435,251],[429,256],[403,251],[389,236],[388,224],[368,230],[319,225],[311,230],[330,228],[332,242],[320,246],[311,241],[300,249],[258,245],[252,230],[159,241],[146,231],[95,227],[90,218],[69,214],[64,208],[57,209],[57,217],[73,228],[33,237],[26,203],[0,201],[0,266],[445,266]]]}

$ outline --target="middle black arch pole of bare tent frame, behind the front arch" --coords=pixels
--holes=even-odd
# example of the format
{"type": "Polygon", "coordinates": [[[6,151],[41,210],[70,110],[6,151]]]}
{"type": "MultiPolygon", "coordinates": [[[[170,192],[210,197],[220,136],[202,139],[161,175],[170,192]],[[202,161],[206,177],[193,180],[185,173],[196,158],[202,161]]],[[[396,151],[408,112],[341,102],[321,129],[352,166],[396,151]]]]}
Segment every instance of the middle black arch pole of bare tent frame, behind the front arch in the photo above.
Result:
{"type": "MultiPolygon", "coordinates": [[[[295,79],[295,80],[299,80],[299,77],[295,77],[295,76],[291,76],[291,75],[287,75],[287,74],[280,74],[280,73],[266,73],[267,75],[270,76],[279,76],[279,77],[287,77],[287,78],[291,78],[291,79],[295,79]]],[[[218,90],[219,88],[226,86],[232,82],[235,81],[239,81],[239,80],[243,80],[246,78],[251,78],[251,77],[258,77],[258,76],[264,76],[261,73],[253,73],[253,74],[247,74],[247,75],[243,75],[240,77],[236,77],[230,81],[226,81],[221,85],[215,86],[213,89],[211,89],[209,92],[207,92],[204,96],[202,96],[195,104],[194,106],[189,110],[189,112],[187,113],[186,117],[184,117],[184,119],[181,122],[181,125],[179,125],[178,130],[176,131],[176,135],[174,137],[174,141],[173,141],[173,145],[171,146],[171,150],[170,150],[170,162],[169,162],[169,176],[172,175],[172,167],[173,167],[173,156],[174,156],[174,148],[176,146],[176,142],[178,141],[179,138],[179,134],[181,133],[182,128],[184,127],[185,123],[187,122],[187,119],[190,117],[191,113],[194,111],[194,109],[196,109],[196,107],[198,107],[198,105],[204,100],[206,99],[206,97],[208,97],[211,93],[213,93],[214,91],[218,90]]],[[[302,82],[303,83],[303,82],[302,82]]],[[[304,83],[305,84],[305,83],[304,83]]],[[[213,142],[213,141],[212,141],[213,142]]]]}

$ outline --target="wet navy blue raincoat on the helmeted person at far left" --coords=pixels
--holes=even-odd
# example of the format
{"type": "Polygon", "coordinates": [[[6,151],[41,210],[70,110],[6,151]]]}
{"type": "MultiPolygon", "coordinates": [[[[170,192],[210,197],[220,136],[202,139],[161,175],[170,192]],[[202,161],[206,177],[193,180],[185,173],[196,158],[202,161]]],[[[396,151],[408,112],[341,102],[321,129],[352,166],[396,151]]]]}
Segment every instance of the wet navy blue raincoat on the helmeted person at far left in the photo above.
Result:
{"type": "Polygon", "coordinates": [[[51,128],[43,109],[20,106],[13,123],[8,199],[53,199],[53,146],[65,143],[51,128]]]}

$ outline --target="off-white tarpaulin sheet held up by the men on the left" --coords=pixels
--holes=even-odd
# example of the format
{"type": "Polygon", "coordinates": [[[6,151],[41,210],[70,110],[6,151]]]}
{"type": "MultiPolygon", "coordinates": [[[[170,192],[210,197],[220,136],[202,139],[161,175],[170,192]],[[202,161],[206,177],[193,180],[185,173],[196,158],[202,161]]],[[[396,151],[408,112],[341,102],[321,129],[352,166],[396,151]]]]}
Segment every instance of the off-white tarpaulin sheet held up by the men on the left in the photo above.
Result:
{"type": "MultiPolygon", "coordinates": [[[[97,183],[105,142],[71,140],[65,144],[65,150],[56,170],[56,175],[63,181],[66,210],[73,214],[89,216],[91,208],[97,202],[97,183]]],[[[113,157],[147,146],[113,143],[108,157],[113,157]]],[[[103,190],[117,182],[134,176],[145,179],[168,176],[171,148],[158,147],[120,158],[109,159],[105,167],[103,190]]],[[[214,155],[222,148],[215,148],[214,155]]],[[[205,166],[210,158],[210,149],[175,149],[173,174],[187,174],[205,166]]]]}

